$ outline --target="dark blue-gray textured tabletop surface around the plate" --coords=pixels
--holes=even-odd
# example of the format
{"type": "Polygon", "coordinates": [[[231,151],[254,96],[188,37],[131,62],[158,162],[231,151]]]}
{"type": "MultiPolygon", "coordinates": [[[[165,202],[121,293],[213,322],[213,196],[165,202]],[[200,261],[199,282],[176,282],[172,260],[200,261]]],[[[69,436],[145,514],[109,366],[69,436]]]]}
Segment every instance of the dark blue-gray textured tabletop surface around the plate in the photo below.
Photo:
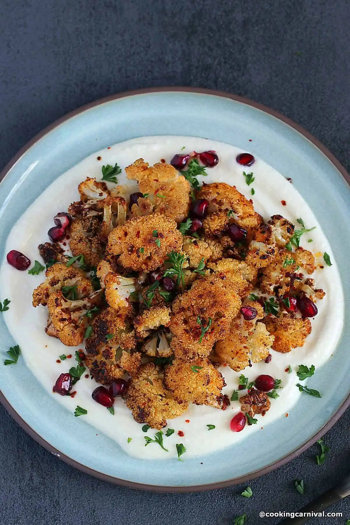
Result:
{"type": "MultiPolygon", "coordinates": [[[[349,169],[350,3],[342,0],[2,0],[0,169],[36,133],[84,103],[128,89],[226,90],[301,124],[349,169]]],[[[336,378],[334,378],[336,381],[336,378]]],[[[340,385],[341,387],[341,385],[340,385]]],[[[103,483],[52,457],[0,407],[0,523],[6,525],[248,525],[278,523],[259,511],[296,510],[348,470],[350,412],[313,446],[242,487],[156,494],[103,483]],[[305,496],[293,488],[303,478],[305,496]]],[[[247,452],[249,453],[249,451],[247,452]]],[[[344,523],[350,500],[332,510],[344,523]]]]}

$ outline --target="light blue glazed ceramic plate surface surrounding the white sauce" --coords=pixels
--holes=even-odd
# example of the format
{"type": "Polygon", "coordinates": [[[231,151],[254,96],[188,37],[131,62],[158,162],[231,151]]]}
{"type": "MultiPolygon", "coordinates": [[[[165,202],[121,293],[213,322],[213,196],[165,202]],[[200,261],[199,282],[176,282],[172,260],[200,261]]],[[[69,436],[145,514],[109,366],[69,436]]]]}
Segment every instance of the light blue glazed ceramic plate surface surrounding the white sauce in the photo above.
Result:
{"type": "MultiPolygon", "coordinates": [[[[248,100],[195,89],[124,93],[79,109],[40,133],[4,170],[0,184],[0,250],[12,225],[61,173],[110,144],[143,135],[194,135],[248,148],[293,184],[331,241],[344,289],[349,289],[349,178],[324,146],[293,122],[248,100]],[[252,139],[249,143],[248,140],[252,139]],[[343,230],[347,231],[347,229],[343,230]]],[[[122,485],[162,491],[224,487],[260,476],[292,459],[330,428],[350,404],[349,309],[334,358],[317,372],[323,396],[302,396],[284,421],[255,433],[249,444],[202,459],[142,461],[126,455],[96,429],[73,418],[49,397],[24,361],[0,366],[0,401],[16,421],[48,450],[92,475],[122,485]],[[336,381],[330,381],[336,377],[336,381]],[[341,385],[341,388],[339,387],[341,385]],[[52,417],[55,414],[55,417],[52,417]],[[92,445],[93,443],[93,445],[92,445]],[[248,446],[248,449],[247,449],[248,446]],[[263,450],[263,454],[262,454],[263,450]]],[[[0,316],[0,352],[13,345],[0,316]]],[[[3,359],[1,359],[3,360],[3,359]]]]}

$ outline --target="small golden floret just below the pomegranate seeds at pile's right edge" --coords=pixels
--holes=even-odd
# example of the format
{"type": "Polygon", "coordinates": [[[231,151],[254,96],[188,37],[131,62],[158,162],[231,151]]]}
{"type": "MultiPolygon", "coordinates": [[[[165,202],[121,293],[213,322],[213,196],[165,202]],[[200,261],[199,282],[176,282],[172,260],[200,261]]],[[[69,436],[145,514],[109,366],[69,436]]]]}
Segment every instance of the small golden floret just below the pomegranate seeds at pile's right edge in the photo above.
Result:
{"type": "Polygon", "coordinates": [[[279,318],[269,313],[263,322],[274,336],[273,350],[281,353],[304,346],[307,335],[311,333],[311,322],[308,318],[299,319],[288,315],[279,318]]]}

